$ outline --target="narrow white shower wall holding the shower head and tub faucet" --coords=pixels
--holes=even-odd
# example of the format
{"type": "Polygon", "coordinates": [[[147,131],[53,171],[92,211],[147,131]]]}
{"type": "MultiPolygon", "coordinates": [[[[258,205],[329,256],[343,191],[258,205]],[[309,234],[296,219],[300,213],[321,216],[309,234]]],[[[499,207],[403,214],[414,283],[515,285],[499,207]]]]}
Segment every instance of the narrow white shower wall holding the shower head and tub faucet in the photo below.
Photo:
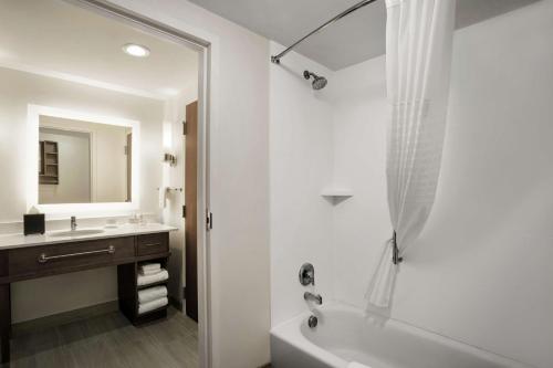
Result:
{"type": "MultiPolygon", "coordinates": [[[[271,42],[271,53],[282,46],[271,42]]],[[[291,53],[270,66],[271,325],[306,309],[305,291],[332,297],[332,203],[321,197],[332,185],[332,105],[303,71],[331,77],[320,64],[291,53]],[[315,287],[298,280],[300,266],[315,267],[315,287]]]]}

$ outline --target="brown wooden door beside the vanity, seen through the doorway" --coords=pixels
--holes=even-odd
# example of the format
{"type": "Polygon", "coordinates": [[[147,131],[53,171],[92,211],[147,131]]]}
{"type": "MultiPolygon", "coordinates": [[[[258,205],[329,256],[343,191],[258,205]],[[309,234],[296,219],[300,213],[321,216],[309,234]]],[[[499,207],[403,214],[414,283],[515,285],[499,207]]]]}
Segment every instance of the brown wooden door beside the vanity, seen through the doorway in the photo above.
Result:
{"type": "Polygon", "coordinates": [[[198,102],[186,106],[186,315],[198,322],[198,102]]]}

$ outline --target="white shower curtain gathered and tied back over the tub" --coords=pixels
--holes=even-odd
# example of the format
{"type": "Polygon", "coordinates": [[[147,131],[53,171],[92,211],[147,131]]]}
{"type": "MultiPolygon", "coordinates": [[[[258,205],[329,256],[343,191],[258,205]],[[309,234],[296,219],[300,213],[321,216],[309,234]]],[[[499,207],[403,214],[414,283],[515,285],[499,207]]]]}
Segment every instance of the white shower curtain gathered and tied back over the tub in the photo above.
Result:
{"type": "Polygon", "coordinates": [[[390,104],[388,206],[394,234],[367,292],[389,308],[398,264],[432,208],[447,118],[456,0],[386,0],[386,84],[390,104]]]}

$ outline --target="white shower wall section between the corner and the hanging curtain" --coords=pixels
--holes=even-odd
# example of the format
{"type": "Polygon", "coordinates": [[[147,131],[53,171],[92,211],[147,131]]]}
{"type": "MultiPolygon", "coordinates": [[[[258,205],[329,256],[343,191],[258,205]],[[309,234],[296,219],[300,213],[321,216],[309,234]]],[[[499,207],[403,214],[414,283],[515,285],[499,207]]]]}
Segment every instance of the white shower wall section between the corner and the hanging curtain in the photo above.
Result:
{"type": "Polygon", "coordinates": [[[334,207],[335,297],[365,306],[364,296],[392,225],[386,201],[386,80],[384,56],[336,72],[334,181],[353,197],[334,207]]]}

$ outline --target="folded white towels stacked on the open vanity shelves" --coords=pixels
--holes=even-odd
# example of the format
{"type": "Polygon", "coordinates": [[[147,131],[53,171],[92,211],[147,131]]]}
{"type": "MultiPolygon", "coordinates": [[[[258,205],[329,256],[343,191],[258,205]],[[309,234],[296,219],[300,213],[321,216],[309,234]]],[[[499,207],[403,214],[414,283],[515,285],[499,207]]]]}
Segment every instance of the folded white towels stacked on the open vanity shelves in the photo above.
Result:
{"type": "MultiPolygon", "coordinates": [[[[167,270],[159,263],[143,264],[138,267],[138,286],[155,284],[169,278],[167,270]]],[[[138,314],[147,313],[169,303],[166,286],[153,286],[138,291],[138,314]]]]}

